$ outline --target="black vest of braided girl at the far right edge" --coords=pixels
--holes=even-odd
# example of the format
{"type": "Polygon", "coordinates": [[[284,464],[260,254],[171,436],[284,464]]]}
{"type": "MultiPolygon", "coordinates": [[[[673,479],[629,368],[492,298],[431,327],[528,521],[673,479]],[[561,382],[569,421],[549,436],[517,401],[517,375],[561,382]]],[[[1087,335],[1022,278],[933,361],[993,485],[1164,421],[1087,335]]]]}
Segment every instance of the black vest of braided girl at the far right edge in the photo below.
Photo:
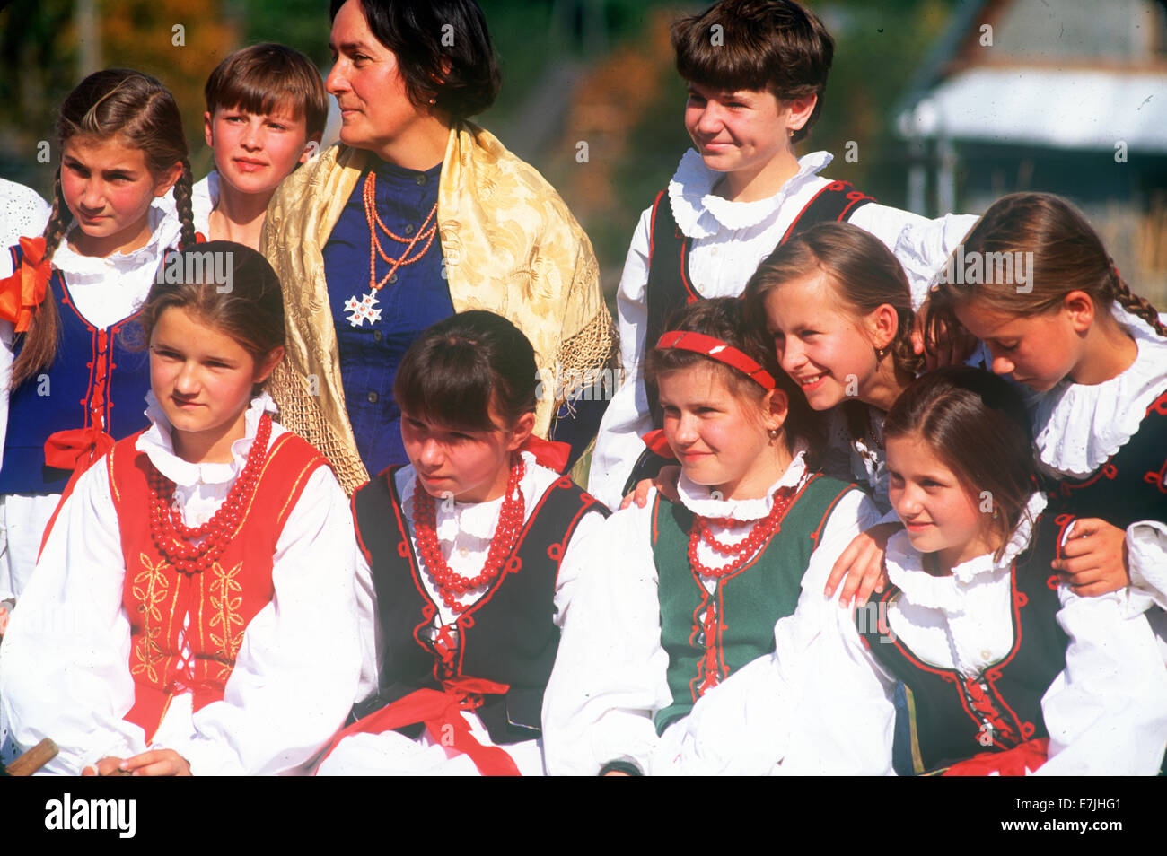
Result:
{"type": "Polygon", "coordinates": [[[1097,472],[1061,482],[1049,500],[1050,510],[1100,518],[1120,529],[1139,520],[1167,520],[1167,391],[1097,472]]]}

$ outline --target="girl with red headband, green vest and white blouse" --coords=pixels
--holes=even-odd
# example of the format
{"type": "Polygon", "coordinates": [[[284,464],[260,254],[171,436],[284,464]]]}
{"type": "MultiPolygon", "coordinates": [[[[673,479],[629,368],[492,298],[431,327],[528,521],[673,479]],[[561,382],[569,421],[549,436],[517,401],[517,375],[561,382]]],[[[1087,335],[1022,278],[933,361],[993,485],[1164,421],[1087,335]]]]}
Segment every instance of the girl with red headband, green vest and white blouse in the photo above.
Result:
{"type": "Polygon", "coordinates": [[[773,650],[804,575],[830,570],[879,514],[815,472],[817,431],[739,299],[687,307],[648,362],[679,501],[656,496],[605,525],[544,706],[552,773],[683,772],[694,702],[773,650]]]}

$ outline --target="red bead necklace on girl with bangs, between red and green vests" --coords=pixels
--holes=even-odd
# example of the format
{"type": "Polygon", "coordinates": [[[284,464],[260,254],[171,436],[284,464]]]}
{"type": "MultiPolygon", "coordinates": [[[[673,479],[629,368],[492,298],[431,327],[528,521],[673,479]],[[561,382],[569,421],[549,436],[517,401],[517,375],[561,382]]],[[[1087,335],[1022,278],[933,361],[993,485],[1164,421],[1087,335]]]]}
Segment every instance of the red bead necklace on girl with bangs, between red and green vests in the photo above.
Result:
{"type": "Polygon", "coordinates": [[[421,486],[420,479],[415,479],[413,483],[413,528],[418,539],[418,552],[421,554],[421,561],[425,562],[429,576],[438,584],[442,603],[456,613],[464,612],[469,608],[469,604],[457,599],[459,596],[494,582],[502,571],[506,557],[515,549],[523,521],[526,519],[523,489],[519,486],[525,472],[526,465],[523,463],[522,456],[515,455],[511,458],[506,490],[503,493],[503,504],[498,512],[498,525],[495,527],[494,538],[490,539],[487,562],[482,567],[482,571],[473,577],[462,576],[446,562],[438,543],[435,522],[438,503],[421,486]]]}

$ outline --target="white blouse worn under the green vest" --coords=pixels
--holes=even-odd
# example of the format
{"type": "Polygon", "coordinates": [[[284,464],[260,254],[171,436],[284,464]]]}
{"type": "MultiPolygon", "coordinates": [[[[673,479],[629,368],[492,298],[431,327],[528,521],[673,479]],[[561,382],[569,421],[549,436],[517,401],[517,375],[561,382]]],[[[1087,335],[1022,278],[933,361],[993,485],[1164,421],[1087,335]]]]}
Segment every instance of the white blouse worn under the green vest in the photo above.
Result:
{"type": "MultiPolygon", "coordinates": [[[[736,520],[757,520],[773,506],[774,492],[797,485],[805,476],[798,455],[771,485],[766,499],[715,500],[708,491],[680,479],[682,503],[692,512],[736,520]]],[[[676,770],[675,756],[686,718],[657,736],[652,717],[672,703],[661,644],[661,599],[652,557],[652,503],[613,514],[603,538],[588,557],[592,569],[572,601],[555,668],[543,706],[547,771],[594,776],[609,762],[627,760],[645,773],[676,770]]],[[[847,492],[831,512],[803,577],[803,589],[822,594],[826,577],[851,540],[875,522],[879,512],[860,491],[847,492]]],[[[741,528],[712,526],[718,540],[746,536],[741,528]]],[[[729,557],[699,548],[699,559],[722,567],[729,557]]],[[[804,594],[805,597],[805,594],[804,594]]],[[[717,696],[721,685],[704,697],[717,696]]]]}

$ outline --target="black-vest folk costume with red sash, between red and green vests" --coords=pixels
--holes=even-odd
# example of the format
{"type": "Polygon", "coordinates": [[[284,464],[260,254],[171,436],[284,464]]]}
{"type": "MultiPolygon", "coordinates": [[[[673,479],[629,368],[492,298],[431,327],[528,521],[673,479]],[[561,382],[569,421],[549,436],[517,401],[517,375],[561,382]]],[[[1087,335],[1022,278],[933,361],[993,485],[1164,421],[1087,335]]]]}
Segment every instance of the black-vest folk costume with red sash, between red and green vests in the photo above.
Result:
{"type": "Polygon", "coordinates": [[[491,501],[434,500],[412,466],[354,496],[361,703],[320,774],[543,774],[544,687],[607,510],[520,462],[491,501]]]}

